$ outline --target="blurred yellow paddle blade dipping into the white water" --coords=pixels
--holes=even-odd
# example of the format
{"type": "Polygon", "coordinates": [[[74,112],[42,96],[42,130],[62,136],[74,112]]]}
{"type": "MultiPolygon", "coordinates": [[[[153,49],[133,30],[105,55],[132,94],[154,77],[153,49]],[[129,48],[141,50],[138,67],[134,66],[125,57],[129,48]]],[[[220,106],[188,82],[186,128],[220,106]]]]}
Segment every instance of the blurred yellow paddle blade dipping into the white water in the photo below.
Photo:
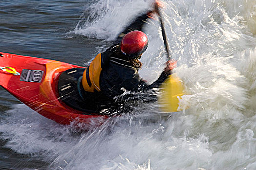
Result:
{"type": "Polygon", "coordinates": [[[175,74],[171,74],[161,85],[162,95],[159,99],[161,109],[164,112],[177,112],[179,98],[184,95],[184,87],[181,80],[175,74]]]}

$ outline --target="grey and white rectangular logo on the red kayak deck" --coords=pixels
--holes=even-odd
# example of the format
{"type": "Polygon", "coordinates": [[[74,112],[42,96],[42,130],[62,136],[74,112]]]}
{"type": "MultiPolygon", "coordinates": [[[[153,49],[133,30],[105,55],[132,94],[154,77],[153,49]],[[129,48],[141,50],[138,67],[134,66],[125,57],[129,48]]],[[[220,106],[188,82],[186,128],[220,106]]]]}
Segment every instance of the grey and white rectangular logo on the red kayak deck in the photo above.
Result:
{"type": "Polygon", "coordinates": [[[23,69],[20,75],[20,81],[24,82],[38,82],[42,81],[43,72],[41,70],[23,69]]]}

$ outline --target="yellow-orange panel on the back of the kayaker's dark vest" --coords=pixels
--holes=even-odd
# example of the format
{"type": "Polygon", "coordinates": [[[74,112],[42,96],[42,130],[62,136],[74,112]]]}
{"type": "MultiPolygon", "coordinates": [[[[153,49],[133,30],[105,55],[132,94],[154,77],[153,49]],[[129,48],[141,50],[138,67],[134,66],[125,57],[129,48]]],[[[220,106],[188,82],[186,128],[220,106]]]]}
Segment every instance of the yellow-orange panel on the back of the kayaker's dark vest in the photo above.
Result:
{"type": "Polygon", "coordinates": [[[99,86],[99,78],[101,71],[101,54],[98,54],[93,59],[90,66],[88,66],[88,68],[86,68],[83,72],[82,85],[85,91],[101,91],[99,86]]]}

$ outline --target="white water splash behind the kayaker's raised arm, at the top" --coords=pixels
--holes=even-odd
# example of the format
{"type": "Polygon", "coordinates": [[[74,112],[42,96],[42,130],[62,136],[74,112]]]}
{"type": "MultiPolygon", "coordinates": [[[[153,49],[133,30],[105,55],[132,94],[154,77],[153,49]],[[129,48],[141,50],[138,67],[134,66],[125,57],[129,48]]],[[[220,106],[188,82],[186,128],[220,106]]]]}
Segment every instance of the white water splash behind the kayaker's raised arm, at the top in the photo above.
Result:
{"type": "Polygon", "coordinates": [[[144,0],[99,0],[87,7],[89,16],[81,16],[74,32],[97,39],[114,40],[132,17],[146,10],[144,0]],[[118,17],[117,17],[118,16],[118,17]]]}

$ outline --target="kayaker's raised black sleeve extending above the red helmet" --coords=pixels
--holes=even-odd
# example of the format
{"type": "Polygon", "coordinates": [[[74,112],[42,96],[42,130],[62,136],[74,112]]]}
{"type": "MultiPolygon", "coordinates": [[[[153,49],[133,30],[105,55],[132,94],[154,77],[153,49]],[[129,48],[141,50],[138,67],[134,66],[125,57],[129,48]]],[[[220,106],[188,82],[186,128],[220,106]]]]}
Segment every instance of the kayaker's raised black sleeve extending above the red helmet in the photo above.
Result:
{"type": "Polygon", "coordinates": [[[128,25],[117,37],[116,42],[120,43],[122,38],[125,34],[134,31],[139,30],[142,31],[142,28],[144,24],[146,23],[147,19],[149,18],[149,14],[152,13],[152,11],[147,11],[146,13],[143,13],[142,15],[138,16],[134,22],[132,22],[130,25],[128,25]]]}

